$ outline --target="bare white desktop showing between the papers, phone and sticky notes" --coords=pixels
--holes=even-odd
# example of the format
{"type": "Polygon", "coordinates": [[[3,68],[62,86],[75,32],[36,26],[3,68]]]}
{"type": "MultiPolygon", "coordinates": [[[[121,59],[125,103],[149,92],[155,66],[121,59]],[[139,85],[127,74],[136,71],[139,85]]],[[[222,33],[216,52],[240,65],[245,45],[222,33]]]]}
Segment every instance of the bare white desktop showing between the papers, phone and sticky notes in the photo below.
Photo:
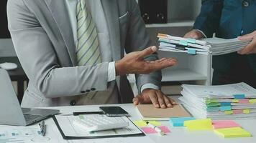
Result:
{"type": "MultiPolygon", "coordinates": [[[[140,119],[137,109],[135,109],[133,104],[115,104],[124,108],[131,115],[131,119],[138,120],[140,119]]],[[[109,105],[102,105],[109,106],[109,105]]],[[[72,112],[85,112],[85,111],[99,111],[99,105],[92,106],[78,106],[78,107],[53,107],[51,109],[60,109],[60,112],[63,114],[70,114],[72,112]]],[[[244,129],[249,131],[252,134],[252,137],[244,138],[231,138],[224,139],[223,137],[218,136],[213,131],[198,131],[198,132],[189,132],[185,127],[171,127],[168,122],[161,122],[163,125],[170,127],[171,133],[163,137],[158,136],[157,134],[148,135],[150,139],[155,142],[161,143],[170,143],[170,142],[207,142],[207,143],[255,143],[256,142],[256,119],[247,119],[247,120],[236,120],[244,129]]],[[[139,142],[139,141],[138,141],[139,142]]],[[[142,141],[140,141],[142,142],[142,141]]]]}

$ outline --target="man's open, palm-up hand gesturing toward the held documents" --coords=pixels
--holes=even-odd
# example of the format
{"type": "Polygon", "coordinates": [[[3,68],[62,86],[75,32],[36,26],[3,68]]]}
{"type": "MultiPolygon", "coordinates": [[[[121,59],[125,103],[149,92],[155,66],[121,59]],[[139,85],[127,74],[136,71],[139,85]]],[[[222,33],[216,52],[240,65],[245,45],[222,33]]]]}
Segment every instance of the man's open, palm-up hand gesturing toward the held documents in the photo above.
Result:
{"type": "Polygon", "coordinates": [[[156,46],[150,46],[142,51],[134,51],[124,56],[123,59],[116,61],[116,75],[124,74],[149,74],[176,64],[173,58],[163,58],[156,61],[145,61],[145,56],[157,51],[156,46]]]}

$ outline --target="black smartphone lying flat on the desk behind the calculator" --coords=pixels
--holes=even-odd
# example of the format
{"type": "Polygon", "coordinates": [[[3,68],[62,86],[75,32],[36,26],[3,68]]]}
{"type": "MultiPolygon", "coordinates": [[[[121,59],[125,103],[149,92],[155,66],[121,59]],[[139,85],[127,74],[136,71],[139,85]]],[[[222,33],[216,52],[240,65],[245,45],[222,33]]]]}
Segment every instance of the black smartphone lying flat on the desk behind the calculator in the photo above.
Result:
{"type": "Polygon", "coordinates": [[[104,114],[108,117],[122,117],[126,116],[128,117],[129,114],[121,107],[99,107],[104,114]]]}

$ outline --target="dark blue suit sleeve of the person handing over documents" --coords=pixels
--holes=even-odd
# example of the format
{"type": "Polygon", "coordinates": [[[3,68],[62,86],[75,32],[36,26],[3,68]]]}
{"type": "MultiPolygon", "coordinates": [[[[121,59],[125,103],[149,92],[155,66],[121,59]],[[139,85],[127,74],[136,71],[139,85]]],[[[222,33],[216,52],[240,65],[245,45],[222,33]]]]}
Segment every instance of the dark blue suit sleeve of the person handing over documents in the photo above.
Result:
{"type": "Polygon", "coordinates": [[[202,0],[201,12],[196,18],[193,29],[199,29],[212,37],[214,32],[219,28],[223,0],[202,0]]]}

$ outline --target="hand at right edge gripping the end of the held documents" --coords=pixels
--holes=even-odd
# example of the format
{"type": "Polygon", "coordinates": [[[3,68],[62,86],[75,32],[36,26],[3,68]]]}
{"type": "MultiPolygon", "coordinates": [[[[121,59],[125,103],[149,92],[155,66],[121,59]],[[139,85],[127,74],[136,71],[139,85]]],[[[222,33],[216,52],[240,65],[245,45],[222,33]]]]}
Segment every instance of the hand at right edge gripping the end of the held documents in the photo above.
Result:
{"type": "Polygon", "coordinates": [[[256,31],[253,31],[250,34],[246,34],[244,36],[237,37],[239,40],[248,40],[252,39],[252,42],[244,47],[244,49],[241,49],[237,51],[238,54],[256,54],[256,31]]]}

